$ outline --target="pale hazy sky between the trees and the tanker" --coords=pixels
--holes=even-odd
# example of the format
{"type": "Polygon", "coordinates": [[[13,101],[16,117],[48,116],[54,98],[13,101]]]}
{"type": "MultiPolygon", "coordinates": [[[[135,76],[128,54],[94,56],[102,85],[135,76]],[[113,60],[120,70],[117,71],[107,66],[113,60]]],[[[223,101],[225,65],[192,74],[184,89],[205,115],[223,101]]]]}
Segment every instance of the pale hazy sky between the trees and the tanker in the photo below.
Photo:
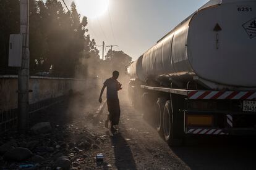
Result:
{"type": "MultiPolygon", "coordinates": [[[[65,1],[70,6],[72,1],[83,0],[65,1]]],[[[80,14],[90,10],[93,1],[109,1],[109,5],[100,16],[88,18],[91,38],[99,46],[102,41],[107,46],[118,45],[113,50],[124,51],[135,60],[208,0],[90,0],[78,7],[80,14]]],[[[98,48],[102,57],[102,47],[98,48]]]]}

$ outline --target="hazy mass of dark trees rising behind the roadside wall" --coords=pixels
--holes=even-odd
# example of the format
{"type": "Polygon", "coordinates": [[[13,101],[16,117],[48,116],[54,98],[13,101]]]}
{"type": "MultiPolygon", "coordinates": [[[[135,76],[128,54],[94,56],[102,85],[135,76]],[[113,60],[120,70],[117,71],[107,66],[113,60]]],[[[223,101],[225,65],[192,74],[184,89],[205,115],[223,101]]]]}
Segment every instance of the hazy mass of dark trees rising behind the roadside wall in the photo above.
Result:
{"type": "MultiPolygon", "coordinates": [[[[9,35],[20,32],[20,1],[0,0],[0,4],[0,70],[10,70],[9,35]]],[[[66,11],[59,0],[30,0],[30,75],[50,70],[53,76],[80,78],[113,70],[123,74],[129,55],[108,51],[106,60],[100,60],[87,25],[87,17],[81,19],[74,2],[66,11]]]]}

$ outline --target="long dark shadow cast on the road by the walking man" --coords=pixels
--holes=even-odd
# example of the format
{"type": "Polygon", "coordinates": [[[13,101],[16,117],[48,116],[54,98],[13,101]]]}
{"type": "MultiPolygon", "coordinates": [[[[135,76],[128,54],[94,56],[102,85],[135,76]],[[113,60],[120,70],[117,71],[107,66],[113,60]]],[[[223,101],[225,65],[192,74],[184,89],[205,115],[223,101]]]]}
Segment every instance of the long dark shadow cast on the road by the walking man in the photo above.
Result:
{"type": "Polygon", "coordinates": [[[134,161],[134,156],[130,150],[129,144],[127,144],[122,134],[114,134],[111,137],[111,143],[114,146],[114,155],[116,158],[117,169],[137,169],[134,161]]]}

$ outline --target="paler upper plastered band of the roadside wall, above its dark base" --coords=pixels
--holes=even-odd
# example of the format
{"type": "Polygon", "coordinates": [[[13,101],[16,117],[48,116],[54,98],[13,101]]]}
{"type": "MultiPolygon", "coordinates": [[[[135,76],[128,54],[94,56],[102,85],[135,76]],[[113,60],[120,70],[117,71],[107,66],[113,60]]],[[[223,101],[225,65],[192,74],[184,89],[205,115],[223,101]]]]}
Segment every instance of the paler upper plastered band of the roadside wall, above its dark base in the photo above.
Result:
{"type": "MultiPolygon", "coordinates": [[[[70,79],[70,78],[48,78],[31,76],[29,89],[29,103],[40,102],[41,100],[51,99],[66,95],[70,89],[74,92],[85,91],[98,86],[100,79],[70,79]]],[[[0,76],[0,110],[17,108],[17,76],[0,76]]]]}

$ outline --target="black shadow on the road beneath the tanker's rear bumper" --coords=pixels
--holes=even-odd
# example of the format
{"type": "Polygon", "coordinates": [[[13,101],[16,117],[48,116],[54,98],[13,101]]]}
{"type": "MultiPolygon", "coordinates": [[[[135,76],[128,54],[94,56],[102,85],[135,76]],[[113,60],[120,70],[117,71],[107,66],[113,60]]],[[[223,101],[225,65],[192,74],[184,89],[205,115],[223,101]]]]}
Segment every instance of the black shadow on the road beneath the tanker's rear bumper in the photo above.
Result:
{"type": "Polygon", "coordinates": [[[194,140],[192,145],[171,148],[191,169],[255,169],[255,137],[194,140]]]}

